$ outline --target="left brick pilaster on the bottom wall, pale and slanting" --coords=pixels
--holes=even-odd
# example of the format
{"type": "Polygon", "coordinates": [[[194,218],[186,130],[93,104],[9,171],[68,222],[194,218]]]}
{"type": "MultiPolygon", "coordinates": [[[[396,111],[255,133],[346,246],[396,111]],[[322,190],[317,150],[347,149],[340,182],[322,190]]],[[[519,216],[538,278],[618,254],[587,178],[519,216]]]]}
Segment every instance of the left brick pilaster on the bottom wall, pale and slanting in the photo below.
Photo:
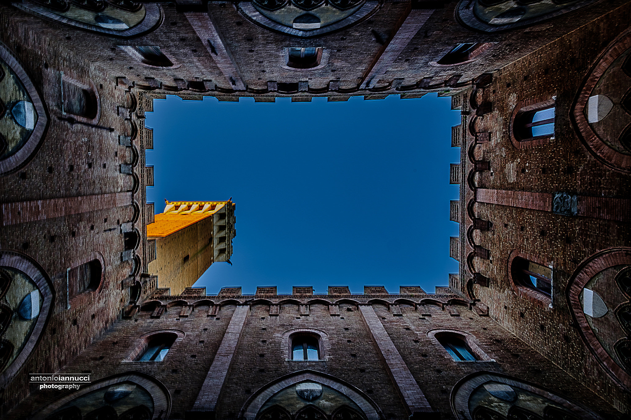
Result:
{"type": "Polygon", "coordinates": [[[249,311],[250,307],[247,305],[237,306],[235,309],[215,355],[215,360],[213,360],[195,404],[193,404],[192,413],[191,415],[187,414],[187,417],[196,417],[195,414],[201,414],[201,412],[214,414],[219,394],[228,375],[228,369],[239,344],[249,311]]]}

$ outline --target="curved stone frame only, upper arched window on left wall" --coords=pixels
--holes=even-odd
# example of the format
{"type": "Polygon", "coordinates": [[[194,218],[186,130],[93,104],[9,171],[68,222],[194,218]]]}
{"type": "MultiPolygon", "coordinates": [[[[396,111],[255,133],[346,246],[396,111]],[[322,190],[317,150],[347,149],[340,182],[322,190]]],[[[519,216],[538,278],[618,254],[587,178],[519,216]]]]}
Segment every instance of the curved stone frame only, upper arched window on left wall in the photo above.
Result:
{"type": "Polygon", "coordinates": [[[37,123],[35,123],[33,132],[30,137],[28,137],[25,144],[13,155],[0,160],[0,176],[4,176],[18,171],[21,167],[25,166],[31,159],[33,159],[39,145],[44,140],[44,134],[49,125],[49,115],[45,110],[44,101],[40,98],[37,89],[35,88],[35,85],[33,85],[30,77],[28,77],[27,72],[3,43],[0,43],[0,59],[6,62],[13,72],[15,72],[16,76],[18,76],[18,79],[22,82],[28,96],[31,98],[33,108],[35,108],[35,111],[37,112],[37,123]]]}

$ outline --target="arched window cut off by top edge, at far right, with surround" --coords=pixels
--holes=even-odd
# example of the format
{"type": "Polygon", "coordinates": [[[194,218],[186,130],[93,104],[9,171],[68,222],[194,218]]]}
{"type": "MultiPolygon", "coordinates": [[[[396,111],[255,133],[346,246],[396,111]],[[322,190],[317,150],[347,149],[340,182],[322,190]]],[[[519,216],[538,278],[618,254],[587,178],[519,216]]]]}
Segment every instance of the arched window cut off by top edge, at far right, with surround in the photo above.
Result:
{"type": "Polygon", "coordinates": [[[460,23],[484,32],[505,31],[533,25],[596,0],[461,0],[456,8],[460,23]]]}

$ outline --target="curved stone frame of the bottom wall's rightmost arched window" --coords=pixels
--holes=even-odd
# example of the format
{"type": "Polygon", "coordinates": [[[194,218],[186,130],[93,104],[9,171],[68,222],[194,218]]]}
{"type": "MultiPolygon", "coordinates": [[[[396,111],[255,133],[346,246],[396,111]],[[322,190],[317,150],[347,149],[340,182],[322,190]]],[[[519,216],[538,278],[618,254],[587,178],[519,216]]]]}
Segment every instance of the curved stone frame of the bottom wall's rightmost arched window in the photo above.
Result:
{"type": "Polygon", "coordinates": [[[603,420],[602,417],[598,416],[598,414],[593,411],[589,411],[586,407],[574,404],[573,402],[566,400],[546,389],[542,389],[536,385],[521,381],[514,377],[503,375],[502,373],[487,372],[484,370],[471,373],[471,375],[467,375],[454,385],[450,396],[451,409],[454,412],[454,415],[456,417],[463,417],[465,420],[473,420],[471,413],[469,412],[469,399],[471,394],[473,394],[473,392],[475,392],[475,390],[484,383],[491,381],[504,383],[510,387],[521,388],[528,392],[532,392],[533,394],[541,395],[541,397],[549,399],[557,403],[559,406],[564,407],[568,411],[573,412],[580,419],[603,420]]]}

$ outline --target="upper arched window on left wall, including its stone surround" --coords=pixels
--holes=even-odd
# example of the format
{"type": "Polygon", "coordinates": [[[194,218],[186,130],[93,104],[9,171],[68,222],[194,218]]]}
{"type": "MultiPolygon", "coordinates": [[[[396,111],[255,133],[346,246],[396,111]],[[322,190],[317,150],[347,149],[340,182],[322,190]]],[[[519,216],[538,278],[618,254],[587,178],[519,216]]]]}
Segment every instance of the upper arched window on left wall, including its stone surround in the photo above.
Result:
{"type": "Polygon", "coordinates": [[[47,125],[44,103],[35,86],[0,43],[0,176],[27,164],[47,125]]]}

